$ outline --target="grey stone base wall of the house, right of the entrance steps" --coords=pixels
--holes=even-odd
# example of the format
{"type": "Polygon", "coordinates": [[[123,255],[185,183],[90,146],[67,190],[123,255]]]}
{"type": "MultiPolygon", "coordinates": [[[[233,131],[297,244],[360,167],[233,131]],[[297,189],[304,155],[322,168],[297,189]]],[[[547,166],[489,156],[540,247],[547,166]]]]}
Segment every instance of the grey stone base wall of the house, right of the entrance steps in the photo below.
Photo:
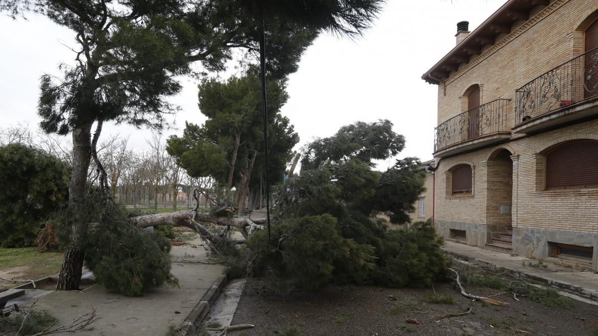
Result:
{"type": "Polygon", "coordinates": [[[598,248],[596,248],[598,234],[530,227],[513,228],[513,253],[515,254],[528,258],[548,258],[552,254],[549,242],[593,247],[592,269],[598,271],[598,248]]]}

